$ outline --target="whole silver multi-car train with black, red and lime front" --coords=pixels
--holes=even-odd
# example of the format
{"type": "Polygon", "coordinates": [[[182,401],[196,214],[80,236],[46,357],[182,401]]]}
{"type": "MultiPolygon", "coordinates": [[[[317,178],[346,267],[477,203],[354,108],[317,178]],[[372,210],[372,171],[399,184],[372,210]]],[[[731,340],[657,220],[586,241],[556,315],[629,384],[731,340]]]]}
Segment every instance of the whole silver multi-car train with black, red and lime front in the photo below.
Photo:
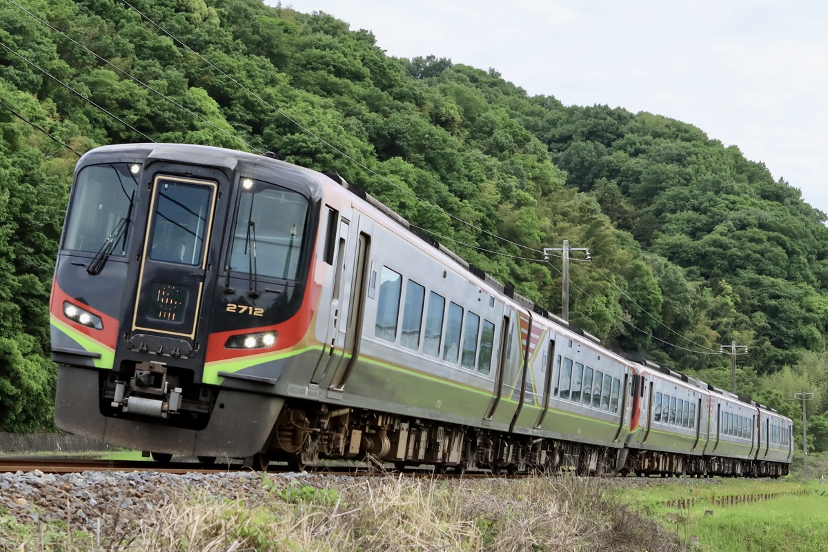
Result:
{"type": "Polygon", "coordinates": [[[159,462],[773,477],[792,421],[550,314],[336,173],[212,146],[82,156],[55,425],[159,462]]]}

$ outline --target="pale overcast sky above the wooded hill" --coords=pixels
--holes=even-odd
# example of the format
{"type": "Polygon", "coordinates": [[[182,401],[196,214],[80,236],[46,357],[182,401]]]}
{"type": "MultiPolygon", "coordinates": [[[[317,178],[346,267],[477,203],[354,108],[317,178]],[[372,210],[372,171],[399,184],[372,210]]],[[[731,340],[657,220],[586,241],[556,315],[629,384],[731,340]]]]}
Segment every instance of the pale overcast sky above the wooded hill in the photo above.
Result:
{"type": "MultiPolygon", "coordinates": [[[[274,5],[276,0],[267,0],[274,5]]],[[[823,0],[286,0],[388,55],[493,68],[530,95],[688,122],[828,213],[823,0]]]]}

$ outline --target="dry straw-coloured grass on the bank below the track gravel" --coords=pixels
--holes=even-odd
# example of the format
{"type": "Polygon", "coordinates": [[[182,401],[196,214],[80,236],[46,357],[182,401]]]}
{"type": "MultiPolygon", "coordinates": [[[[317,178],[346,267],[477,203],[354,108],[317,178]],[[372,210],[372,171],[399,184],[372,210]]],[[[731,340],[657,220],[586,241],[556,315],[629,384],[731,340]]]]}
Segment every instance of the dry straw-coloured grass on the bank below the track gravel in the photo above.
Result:
{"type": "Polygon", "coordinates": [[[176,488],[149,515],[113,510],[99,531],[0,511],[0,550],[680,550],[656,523],[606,500],[601,487],[579,478],[264,475],[243,501],[176,488]]]}

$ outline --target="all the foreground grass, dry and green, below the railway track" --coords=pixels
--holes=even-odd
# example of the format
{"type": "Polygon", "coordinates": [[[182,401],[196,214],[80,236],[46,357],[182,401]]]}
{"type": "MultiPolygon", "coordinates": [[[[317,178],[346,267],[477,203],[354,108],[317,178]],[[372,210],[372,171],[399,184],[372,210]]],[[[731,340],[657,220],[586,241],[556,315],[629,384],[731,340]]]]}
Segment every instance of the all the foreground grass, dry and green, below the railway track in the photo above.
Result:
{"type": "MultiPolygon", "coordinates": [[[[142,457],[126,450],[105,458],[142,457]]],[[[142,516],[113,509],[93,530],[68,525],[70,516],[18,519],[0,502],[0,551],[828,550],[828,483],[793,476],[441,480],[262,474],[251,487],[238,495],[243,500],[198,486],[171,488],[169,500],[142,516]],[[730,505],[730,497],[745,496],[763,500],[730,505]],[[691,500],[689,507],[679,504],[691,500]]]]}

